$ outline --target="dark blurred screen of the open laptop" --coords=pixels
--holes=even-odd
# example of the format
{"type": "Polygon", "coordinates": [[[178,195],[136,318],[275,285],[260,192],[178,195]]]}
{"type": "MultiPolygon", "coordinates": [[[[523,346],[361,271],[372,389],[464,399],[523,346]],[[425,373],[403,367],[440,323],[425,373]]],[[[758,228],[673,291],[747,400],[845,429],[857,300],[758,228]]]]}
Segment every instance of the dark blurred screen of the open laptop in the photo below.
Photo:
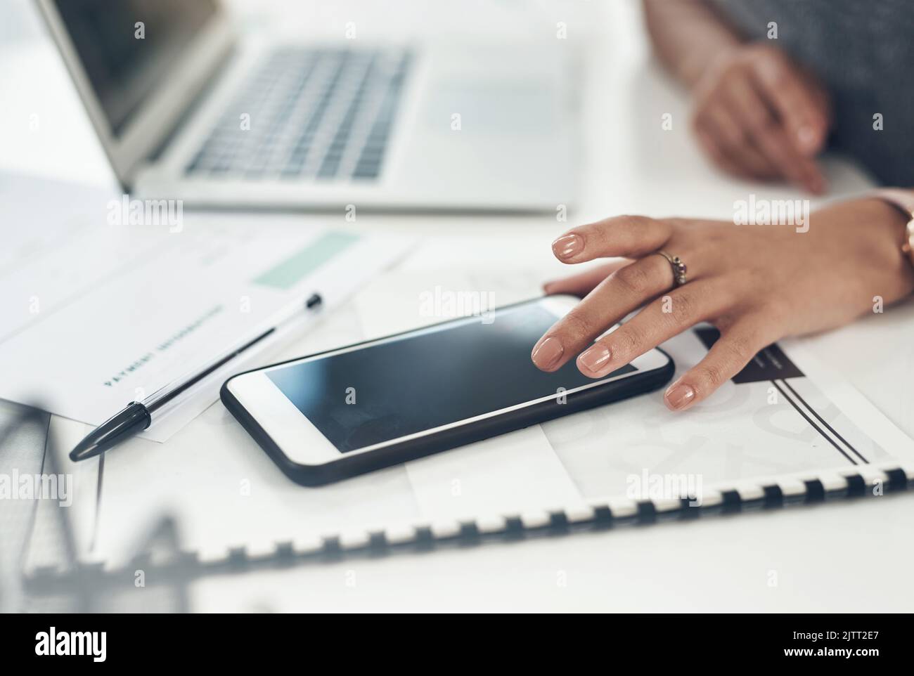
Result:
{"type": "Polygon", "coordinates": [[[216,0],[55,0],[115,136],[175,66],[216,0]]]}

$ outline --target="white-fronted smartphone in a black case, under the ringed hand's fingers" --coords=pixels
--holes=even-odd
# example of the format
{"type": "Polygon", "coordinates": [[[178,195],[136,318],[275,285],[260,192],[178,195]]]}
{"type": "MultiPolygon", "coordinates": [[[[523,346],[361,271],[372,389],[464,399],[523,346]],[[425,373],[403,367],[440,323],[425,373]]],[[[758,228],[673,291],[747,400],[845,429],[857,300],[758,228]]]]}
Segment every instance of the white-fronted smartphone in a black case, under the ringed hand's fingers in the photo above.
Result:
{"type": "Polygon", "coordinates": [[[319,485],[664,386],[659,349],[599,380],[530,361],[575,306],[547,296],[235,375],[225,406],[293,481],[319,485]]]}

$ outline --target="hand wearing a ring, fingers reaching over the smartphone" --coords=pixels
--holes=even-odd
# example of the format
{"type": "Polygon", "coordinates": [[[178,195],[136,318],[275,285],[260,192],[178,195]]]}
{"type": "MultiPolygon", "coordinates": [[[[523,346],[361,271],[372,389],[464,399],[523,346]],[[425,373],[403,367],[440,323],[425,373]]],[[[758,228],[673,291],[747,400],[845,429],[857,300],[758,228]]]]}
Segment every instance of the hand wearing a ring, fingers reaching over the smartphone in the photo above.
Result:
{"type": "Polygon", "coordinates": [[[586,297],[539,339],[534,364],[555,371],[577,356],[582,374],[600,378],[693,324],[711,322],[719,340],[664,396],[681,410],[782,337],[850,322],[872,312],[875,296],[888,304],[914,290],[914,269],[900,251],[905,218],[894,207],[859,199],[813,212],[808,225],[798,232],[792,225],[622,216],[569,230],[552,245],[562,262],[623,258],[546,285],[550,294],[586,297]],[[671,265],[658,249],[688,266],[684,285],[673,288],[671,265]]]}

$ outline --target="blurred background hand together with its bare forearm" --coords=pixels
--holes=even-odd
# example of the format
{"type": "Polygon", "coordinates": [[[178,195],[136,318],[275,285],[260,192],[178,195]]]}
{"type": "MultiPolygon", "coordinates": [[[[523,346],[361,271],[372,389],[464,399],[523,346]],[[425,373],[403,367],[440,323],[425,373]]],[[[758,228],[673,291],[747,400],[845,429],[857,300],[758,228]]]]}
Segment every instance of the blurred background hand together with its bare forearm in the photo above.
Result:
{"type": "Polygon", "coordinates": [[[644,9],[658,55],[692,90],[693,128],[714,164],[823,193],[814,158],[832,104],[819,79],[779,48],[742,41],[704,0],[644,0],[644,9]]]}

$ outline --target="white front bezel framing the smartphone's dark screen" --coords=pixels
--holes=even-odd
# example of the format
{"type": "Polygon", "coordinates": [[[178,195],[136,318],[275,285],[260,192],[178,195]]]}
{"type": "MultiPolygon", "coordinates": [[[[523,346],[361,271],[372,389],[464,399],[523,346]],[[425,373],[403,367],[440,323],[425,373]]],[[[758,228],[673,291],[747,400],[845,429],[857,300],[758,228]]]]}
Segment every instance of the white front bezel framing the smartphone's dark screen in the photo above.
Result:
{"type": "MultiPolygon", "coordinates": [[[[552,313],[558,320],[567,312],[569,312],[569,310],[579,302],[579,299],[574,298],[573,296],[547,296],[541,299],[540,302],[542,303],[543,307],[545,307],[548,312],[552,313]]],[[[433,333],[436,331],[446,330],[448,327],[455,325],[455,323],[459,325],[459,322],[479,321],[479,317],[468,317],[463,320],[448,322],[446,325],[436,324],[423,329],[417,329],[416,331],[410,333],[416,335],[420,335],[422,333],[433,333]]],[[[338,459],[350,458],[356,455],[370,453],[374,450],[383,449],[385,447],[392,446],[409,439],[428,436],[430,434],[440,432],[444,429],[456,428],[461,425],[466,425],[487,417],[499,416],[508,411],[530,407],[540,402],[555,399],[559,396],[559,393],[550,396],[543,396],[513,407],[507,407],[497,411],[492,411],[482,416],[458,420],[447,425],[442,425],[438,428],[426,429],[421,432],[407,435],[405,437],[389,439],[388,441],[366,446],[361,449],[349,450],[344,453],[336,449],[333,443],[331,443],[328,438],[324,437],[318,428],[314,427],[314,424],[307,417],[305,417],[302,412],[294,406],[294,404],[292,404],[292,401],[290,401],[285,395],[282,394],[282,390],[280,390],[279,387],[275,386],[271,379],[267,376],[267,373],[273,370],[286,368],[294,364],[301,364],[303,362],[314,361],[315,359],[324,359],[326,357],[333,356],[334,354],[344,354],[346,352],[366,349],[372,345],[400,340],[402,337],[402,335],[399,335],[388,338],[379,338],[375,341],[371,341],[370,343],[345,347],[339,350],[334,350],[333,352],[311,357],[303,357],[302,359],[286,362],[285,364],[266,367],[258,371],[251,371],[250,373],[237,375],[234,378],[231,378],[228,381],[226,387],[228,388],[228,391],[231,393],[231,395],[238,400],[241,407],[244,407],[250,416],[257,420],[260,428],[262,428],[263,431],[266,432],[266,434],[276,443],[276,445],[282,449],[282,452],[288,459],[299,465],[309,466],[323,465],[338,459]]],[[[659,352],[658,350],[651,350],[650,352],[636,357],[632,361],[632,366],[634,366],[638,371],[652,371],[654,369],[663,367],[667,361],[668,357],[666,357],[663,353],[659,352]]],[[[622,378],[635,373],[637,373],[637,371],[630,371],[628,373],[615,375],[610,378],[594,380],[593,383],[569,389],[562,394],[569,395],[575,392],[580,392],[581,390],[590,389],[590,387],[596,387],[611,381],[621,380],[622,378]]]]}

